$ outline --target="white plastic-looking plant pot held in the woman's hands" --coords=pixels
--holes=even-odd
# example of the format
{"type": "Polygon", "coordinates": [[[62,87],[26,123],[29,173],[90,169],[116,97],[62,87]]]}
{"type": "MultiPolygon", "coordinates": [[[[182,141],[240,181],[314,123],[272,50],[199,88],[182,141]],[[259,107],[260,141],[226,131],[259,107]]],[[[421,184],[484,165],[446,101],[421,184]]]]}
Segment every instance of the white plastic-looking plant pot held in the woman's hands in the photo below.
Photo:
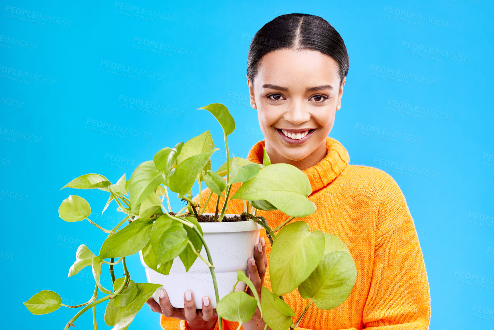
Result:
{"type": "MultiPolygon", "coordinates": [[[[206,213],[205,213],[206,214],[206,213]]],[[[227,217],[233,215],[227,214],[227,217]]],[[[253,220],[239,222],[215,222],[200,223],[203,229],[204,239],[214,266],[216,283],[218,284],[219,298],[230,293],[233,284],[237,282],[237,271],[240,269],[247,275],[247,260],[253,256],[254,247],[258,243],[259,232],[262,226],[253,220]]],[[[206,250],[203,246],[201,255],[207,260],[206,250]]],[[[203,308],[202,298],[208,296],[212,307],[216,308],[216,295],[211,278],[211,272],[204,261],[197,258],[188,272],[179,257],[173,260],[168,275],[160,274],[149,268],[139,251],[141,263],[146,269],[148,283],[162,284],[153,297],[159,302],[158,292],[161,288],[166,290],[170,303],[175,308],[184,308],[184,292],[191,290],[197,308],[203,308]]],[[[245,290],[246,284],[237,284],[240,290],[245,290]]]]}

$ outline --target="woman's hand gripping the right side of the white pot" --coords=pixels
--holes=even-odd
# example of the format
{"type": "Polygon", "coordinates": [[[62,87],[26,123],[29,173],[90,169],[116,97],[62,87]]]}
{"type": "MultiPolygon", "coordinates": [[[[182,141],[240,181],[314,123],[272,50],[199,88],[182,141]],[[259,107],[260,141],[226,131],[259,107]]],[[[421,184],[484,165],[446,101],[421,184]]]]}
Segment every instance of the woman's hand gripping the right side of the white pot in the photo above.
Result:
{"type": "MultiPolygon", "coordinates": [[[[247,260],[247,269],[250,275],[250,281],[255,286],[255,290],[261,298],[261,288],[264,284],[264,276],[266,275],[266,267],[268,266],[268,260],[266,258],[266,245],[264,243],[264,237],[259,238],[259,243],[254,247],[254,257],[247,260]]],[[[252,297],[254,294],[250,287],[247,288],[247,294],[252,297]]],[[[254,316],[243,324],[244,330],[264,330],[264,320],[261,319],[261,313],[259,308],[256,307],[254,316]]],[[[269,329],[269,328],[268,328],[269,329]]]]}

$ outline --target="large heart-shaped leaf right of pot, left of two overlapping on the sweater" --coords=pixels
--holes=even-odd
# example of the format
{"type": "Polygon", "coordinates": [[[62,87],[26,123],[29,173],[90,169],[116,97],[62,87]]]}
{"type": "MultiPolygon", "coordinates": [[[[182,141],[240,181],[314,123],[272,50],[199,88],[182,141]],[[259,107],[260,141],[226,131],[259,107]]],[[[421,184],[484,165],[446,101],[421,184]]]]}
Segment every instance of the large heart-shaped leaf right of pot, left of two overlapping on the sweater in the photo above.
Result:
{"type": "Polygon", "coordinates": [[[325,238],[321,231],[309,231],[304,221],[283,227],[269,255],[271,289],[276,296],[294,290],[305,281],[323,257],[325,238]]]}

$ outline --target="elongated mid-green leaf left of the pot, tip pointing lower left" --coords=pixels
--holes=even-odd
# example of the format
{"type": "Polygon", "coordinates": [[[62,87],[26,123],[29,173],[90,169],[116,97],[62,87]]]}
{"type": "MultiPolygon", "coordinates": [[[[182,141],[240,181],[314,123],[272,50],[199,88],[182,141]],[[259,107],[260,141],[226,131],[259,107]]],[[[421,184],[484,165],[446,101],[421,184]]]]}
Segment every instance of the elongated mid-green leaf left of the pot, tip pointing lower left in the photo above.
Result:
{"type": "Polygon", "coordinates": [[[152,226],[153,221],[148,218],[132,221],[103,242],[99,256],[117,258],[139,252],[148,243],[152,226]]]}

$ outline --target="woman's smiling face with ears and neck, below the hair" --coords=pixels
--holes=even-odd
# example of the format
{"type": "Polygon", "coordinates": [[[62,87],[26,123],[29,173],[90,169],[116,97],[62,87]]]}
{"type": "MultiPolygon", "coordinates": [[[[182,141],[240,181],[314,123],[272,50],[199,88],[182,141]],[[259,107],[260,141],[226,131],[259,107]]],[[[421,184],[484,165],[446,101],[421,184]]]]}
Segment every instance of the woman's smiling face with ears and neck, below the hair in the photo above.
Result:
{"type": "MultiPolygon", "coordinates": [[[[346,77],[345,77],[346,78],[346,77]]],[[[326,137],[341,107],[338,65],[315,50],[278,49],[264,55],[250,81],[266,151],[273,163],[305,169],[326,156],[326,137]]]]}

